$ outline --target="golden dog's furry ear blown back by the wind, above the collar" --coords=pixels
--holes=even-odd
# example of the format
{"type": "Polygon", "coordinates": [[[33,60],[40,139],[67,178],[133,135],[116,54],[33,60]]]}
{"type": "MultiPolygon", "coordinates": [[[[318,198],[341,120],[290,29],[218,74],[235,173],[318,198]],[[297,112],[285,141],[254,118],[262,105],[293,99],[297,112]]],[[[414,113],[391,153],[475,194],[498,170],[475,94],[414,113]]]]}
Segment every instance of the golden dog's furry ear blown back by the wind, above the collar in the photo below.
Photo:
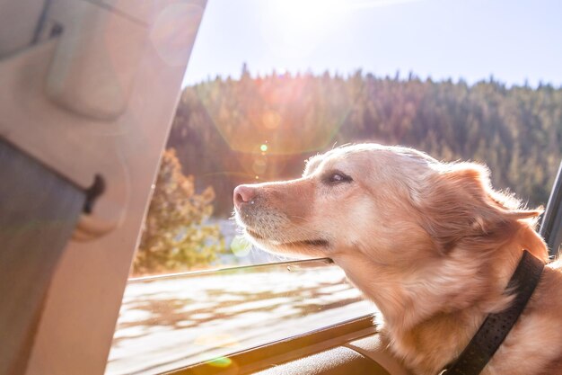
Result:
{"type": "Polygon", "coordinates": [[[500,241],[513,234],[517,220],[540,215],[540,210],[520,210],[519,201],[495,192],[487,168],[474,163],[442,165],[426,179],[421,197],[420,224],[443,253],[461,242],[500,241]]]}

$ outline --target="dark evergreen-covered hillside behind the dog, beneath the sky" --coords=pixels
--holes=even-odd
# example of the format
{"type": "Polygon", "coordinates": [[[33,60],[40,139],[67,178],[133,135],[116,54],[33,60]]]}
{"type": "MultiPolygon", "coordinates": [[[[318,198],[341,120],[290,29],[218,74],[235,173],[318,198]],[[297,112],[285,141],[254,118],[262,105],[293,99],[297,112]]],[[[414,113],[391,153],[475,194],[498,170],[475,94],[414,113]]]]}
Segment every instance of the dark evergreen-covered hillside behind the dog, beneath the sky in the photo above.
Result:
{"type": "Polygon", "coordinates": [[[297,177],[305,158],[359,141],[485,162],[497,189],[544,205],[562,158],[562,89],[243,72],[186,87],[168,147],[228,215],[236,184],[297,177]]]}

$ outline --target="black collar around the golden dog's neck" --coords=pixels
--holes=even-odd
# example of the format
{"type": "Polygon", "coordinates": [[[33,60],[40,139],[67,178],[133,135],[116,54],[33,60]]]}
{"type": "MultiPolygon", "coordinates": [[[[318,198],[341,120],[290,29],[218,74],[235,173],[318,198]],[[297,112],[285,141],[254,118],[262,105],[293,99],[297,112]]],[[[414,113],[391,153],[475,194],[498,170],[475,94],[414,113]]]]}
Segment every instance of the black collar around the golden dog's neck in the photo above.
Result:
{"type": "Polygon", "coordinates": [[[484,369],[527,305],[543,268],[544,263],[527,250],[523,251],[521,261],[506,288],[508,293],[515,293],[513,305],[500,313],[488,315],[459,358],[440,375],[478,375],[484,369]]]}

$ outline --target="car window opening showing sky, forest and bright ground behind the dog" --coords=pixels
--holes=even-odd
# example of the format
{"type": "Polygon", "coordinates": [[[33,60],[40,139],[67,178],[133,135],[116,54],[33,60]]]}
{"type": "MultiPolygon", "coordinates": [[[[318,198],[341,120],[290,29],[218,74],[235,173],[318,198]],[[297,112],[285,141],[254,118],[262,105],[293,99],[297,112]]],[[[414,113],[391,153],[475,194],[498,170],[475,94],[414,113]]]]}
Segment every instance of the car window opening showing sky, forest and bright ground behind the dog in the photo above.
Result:
{"type": "Polygon", "coordinates": [[[321,261],[286,280],[285,263],[224,271],[290,261],[240,236],[234,187],[298,177],[331,147],[375,141],[482,162],[496,189],[546,205],[562,158],[561,11],[554,1],[210,0],[108,373],[170,370],[376,311],[321,261]],[[167,273],[177,275],[145,279],[167,273]],[[247,326],[285,317],[298,328],[247,326]]]}

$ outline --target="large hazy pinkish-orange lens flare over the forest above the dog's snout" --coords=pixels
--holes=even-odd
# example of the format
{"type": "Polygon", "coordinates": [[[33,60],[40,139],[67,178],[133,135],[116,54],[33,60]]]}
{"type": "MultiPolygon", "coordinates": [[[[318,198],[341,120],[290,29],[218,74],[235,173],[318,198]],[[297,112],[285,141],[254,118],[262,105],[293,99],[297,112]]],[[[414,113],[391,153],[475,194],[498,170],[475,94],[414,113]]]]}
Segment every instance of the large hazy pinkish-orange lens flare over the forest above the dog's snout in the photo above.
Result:
{"type": "MultiPolygon", "coordinates": [[[[220,90],[214,85],[197,85],[195,94],[215,129],[241,158],[266,152],[268,156],[296,156],[325,149],[352,107],[338,85],[315,76],[229,81],[220,90]],[[321,105],[312,106],[319,90],[324,93],[321,105]],[[237,93],[241,91],[249,94],[240,97],[237,93]]],[[[268,164],[269,174],[273,162],[268,164]]],[[[251,162],[248,167],[251,170],[251,162]]]]}

